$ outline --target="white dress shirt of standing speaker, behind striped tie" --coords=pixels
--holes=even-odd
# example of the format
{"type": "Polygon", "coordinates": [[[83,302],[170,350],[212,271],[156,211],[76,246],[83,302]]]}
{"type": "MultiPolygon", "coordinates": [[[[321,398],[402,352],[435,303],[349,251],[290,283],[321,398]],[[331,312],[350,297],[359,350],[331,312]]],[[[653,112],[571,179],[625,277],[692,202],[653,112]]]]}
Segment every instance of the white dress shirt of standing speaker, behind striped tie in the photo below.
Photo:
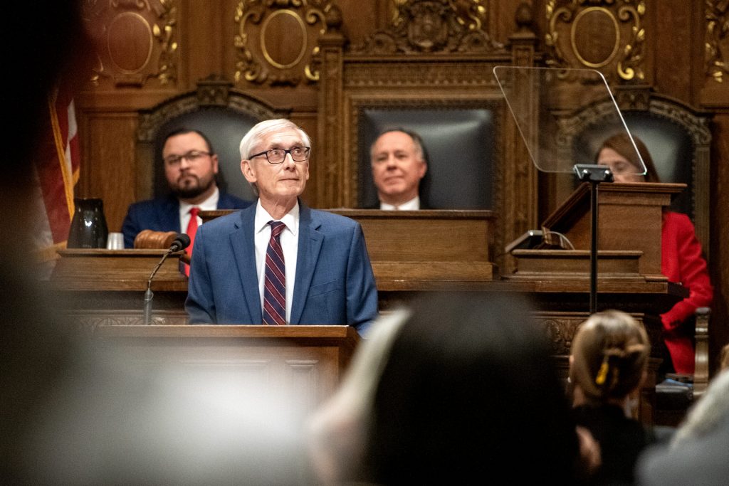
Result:
{"type": "MultiPolygon", "coordinates": [[[[263,286],[265,281],[266,248],[271,238],[271,227],[268,222],[275,221],[268,211],[256,204],[256,217],[254,219],[255,246],[256,246],[256,275],[258,276],[258,294],[261,299],[261,312],[263,311],[263,286]]],[[[291,321],[291,305],[294,302],[294,280],[296,278],[296,257],[299,251],[299,203],[286,215],[278,219],[286,224],[286,228],[279,235],[281,249],[284,251],[284,265],[286,265],[286,322],[291,321]]]]}

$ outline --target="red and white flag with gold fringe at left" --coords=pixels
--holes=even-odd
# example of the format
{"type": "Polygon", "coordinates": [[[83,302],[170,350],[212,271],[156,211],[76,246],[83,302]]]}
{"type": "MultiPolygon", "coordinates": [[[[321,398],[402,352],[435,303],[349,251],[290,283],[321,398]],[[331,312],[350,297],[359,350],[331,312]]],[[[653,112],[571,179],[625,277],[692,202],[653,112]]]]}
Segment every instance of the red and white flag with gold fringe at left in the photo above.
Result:
{"type": "Polygon", "coordinates": [[[66,248],[74,216],[74,186],[79,179],[79,139],[74,101],[63,85],[48,99],[47,123],[42,127],[36,176],[36,248],[40,262],[56,259],[66,248]]]}

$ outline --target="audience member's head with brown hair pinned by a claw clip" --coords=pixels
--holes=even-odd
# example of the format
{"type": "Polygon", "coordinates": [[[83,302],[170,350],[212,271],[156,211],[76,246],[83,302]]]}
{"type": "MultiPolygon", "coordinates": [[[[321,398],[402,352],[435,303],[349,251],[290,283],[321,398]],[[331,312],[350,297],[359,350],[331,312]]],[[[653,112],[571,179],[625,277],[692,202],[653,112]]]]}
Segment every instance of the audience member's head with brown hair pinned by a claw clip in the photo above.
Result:
{"type": "Polygon", "coordinates": [[[596,313],[572,340],[570,381],[588,403],[620,401],[645,379],[649,356],[648,335],[631,315],[596,313]]]}

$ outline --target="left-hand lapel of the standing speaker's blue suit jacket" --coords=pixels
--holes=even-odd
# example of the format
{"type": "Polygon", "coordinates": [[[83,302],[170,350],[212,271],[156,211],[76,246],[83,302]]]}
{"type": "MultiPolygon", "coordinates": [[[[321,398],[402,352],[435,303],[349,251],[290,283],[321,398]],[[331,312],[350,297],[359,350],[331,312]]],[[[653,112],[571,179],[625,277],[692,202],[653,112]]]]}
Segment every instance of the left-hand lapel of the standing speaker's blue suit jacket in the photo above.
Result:
{"type": "Polygon", "coordinates": [[[238,266],[238,275],[241,276],[243,297],[248,305],[251,317],[250,324],[261,324],[261,300],[258,291],[256,274],[256,247],[255,247],[255,216],[256,205],[250,205],[241,211],[241,220],[236,222],[236,230],[230,233],[230,247],[233,248],[235,264],[238,266]]]}

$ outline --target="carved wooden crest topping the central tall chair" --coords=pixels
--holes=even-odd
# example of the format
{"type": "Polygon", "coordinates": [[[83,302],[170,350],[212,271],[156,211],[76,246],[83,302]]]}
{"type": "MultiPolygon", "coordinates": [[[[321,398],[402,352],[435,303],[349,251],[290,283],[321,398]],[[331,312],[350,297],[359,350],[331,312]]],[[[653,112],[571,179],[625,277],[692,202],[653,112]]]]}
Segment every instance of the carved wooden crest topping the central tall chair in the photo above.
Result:
{"type": "Polygon", "coordinates": [[[355,54],[491,52],[502,44],[483,30],[483,0],[395,0],[391,25],[351,47],[355,54]]]}

